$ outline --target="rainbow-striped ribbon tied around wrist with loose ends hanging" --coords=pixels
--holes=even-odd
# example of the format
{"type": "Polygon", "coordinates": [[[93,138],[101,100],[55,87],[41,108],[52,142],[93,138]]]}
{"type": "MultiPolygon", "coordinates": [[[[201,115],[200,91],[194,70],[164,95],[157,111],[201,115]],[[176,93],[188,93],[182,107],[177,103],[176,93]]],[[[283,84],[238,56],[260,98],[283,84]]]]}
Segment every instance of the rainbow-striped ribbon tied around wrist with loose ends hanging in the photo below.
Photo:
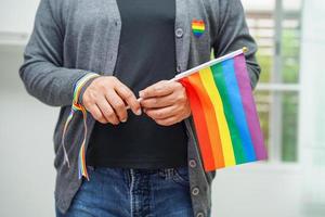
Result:
{"type": "Polygon", "coordinates": [[[65,148],[65,142],[64,142],[64,138],[67,131],[67,128],[69,126],[69,123],[72,122],[75,112],[80,111],[82,113],[82,118],[83,118],[83,127],[84,127],[84,132],[83,132],[83,140],[80,146],[80,151],[79,151],[79,155],[78,155],[78,171],[79,171],[79,179],[82,178],[82,176],[84,178],[87,178],[87,180],[89,180],[89,176],[87,173],[87,167],[86,167],[86,138],[87,138],[87,111],[84,108],[84,106],[79,103],[79,97],[80,97],[80,91],[82,89],[82,87],[84,86],[84,84],[95,77],[99,77],[100,75],[94,74],[94,73],[89,73],[87,75],[84,75],[82,78],[80,78],[74,87],[74,100],[73,100],[73,105],[72,105],[72,110],[70,113],[67,117],[67,120],[65,122],[64,128],[63,128],[63,135],[62,135],[62,146],[63,146],[63,151],[64,151],[64,164],[66,163],[68,165],[68,167],[70,167],[69,164],[69,158],[68,158],[68,154],[65,148]]]}

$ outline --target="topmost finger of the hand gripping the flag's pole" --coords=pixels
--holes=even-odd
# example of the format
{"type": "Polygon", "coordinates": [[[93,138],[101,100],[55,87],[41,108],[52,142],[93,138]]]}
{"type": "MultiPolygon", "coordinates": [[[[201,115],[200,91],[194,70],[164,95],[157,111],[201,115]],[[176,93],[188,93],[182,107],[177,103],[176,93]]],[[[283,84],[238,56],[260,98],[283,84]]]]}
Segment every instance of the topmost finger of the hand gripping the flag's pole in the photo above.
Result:
{"type": "Polygon", "coordinates": [[[173,92],[179,82],[161,80],[139,92],[140,98],[164,97],[173,92]]]}

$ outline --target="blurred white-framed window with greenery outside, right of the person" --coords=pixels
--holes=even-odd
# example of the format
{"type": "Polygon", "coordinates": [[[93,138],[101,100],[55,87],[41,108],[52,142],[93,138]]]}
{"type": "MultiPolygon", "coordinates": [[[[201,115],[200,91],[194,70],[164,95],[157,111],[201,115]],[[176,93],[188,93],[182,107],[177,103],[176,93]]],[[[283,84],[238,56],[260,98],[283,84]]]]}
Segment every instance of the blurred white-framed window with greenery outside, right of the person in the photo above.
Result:
{"type": "Polygon", "coordinates": [[[301,0],[243,3],[259,46],[262,74],[255,95],[269,161],[297,162],[301,0]]]}

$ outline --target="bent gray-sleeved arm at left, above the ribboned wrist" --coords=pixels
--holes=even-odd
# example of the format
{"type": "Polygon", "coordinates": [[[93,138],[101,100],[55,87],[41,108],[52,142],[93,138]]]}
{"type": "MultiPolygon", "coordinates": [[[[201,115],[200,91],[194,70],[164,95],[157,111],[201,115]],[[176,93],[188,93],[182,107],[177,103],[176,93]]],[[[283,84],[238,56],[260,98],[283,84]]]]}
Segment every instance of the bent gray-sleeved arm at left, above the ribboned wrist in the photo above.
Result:
{"type": "Polygon", "coordinates": [[[58,0],[41,0],[24,52],[20,76],[31,95],[53,105],[70,105],[75,84],[91,72],[63,67],[64,22],[58,0]]]}

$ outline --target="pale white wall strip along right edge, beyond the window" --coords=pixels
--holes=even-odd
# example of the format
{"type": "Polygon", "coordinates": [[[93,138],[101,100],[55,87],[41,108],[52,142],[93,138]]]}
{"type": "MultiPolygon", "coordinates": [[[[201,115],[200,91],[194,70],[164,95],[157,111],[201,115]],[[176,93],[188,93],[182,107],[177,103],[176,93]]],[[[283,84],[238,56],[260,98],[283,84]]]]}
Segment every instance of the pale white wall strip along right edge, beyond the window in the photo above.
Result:
{"type": "Polygon", "coordinates": [[[301,50],[300,146],[303,213],[325,216],[325,1],[304,2],[301,50]]]}

